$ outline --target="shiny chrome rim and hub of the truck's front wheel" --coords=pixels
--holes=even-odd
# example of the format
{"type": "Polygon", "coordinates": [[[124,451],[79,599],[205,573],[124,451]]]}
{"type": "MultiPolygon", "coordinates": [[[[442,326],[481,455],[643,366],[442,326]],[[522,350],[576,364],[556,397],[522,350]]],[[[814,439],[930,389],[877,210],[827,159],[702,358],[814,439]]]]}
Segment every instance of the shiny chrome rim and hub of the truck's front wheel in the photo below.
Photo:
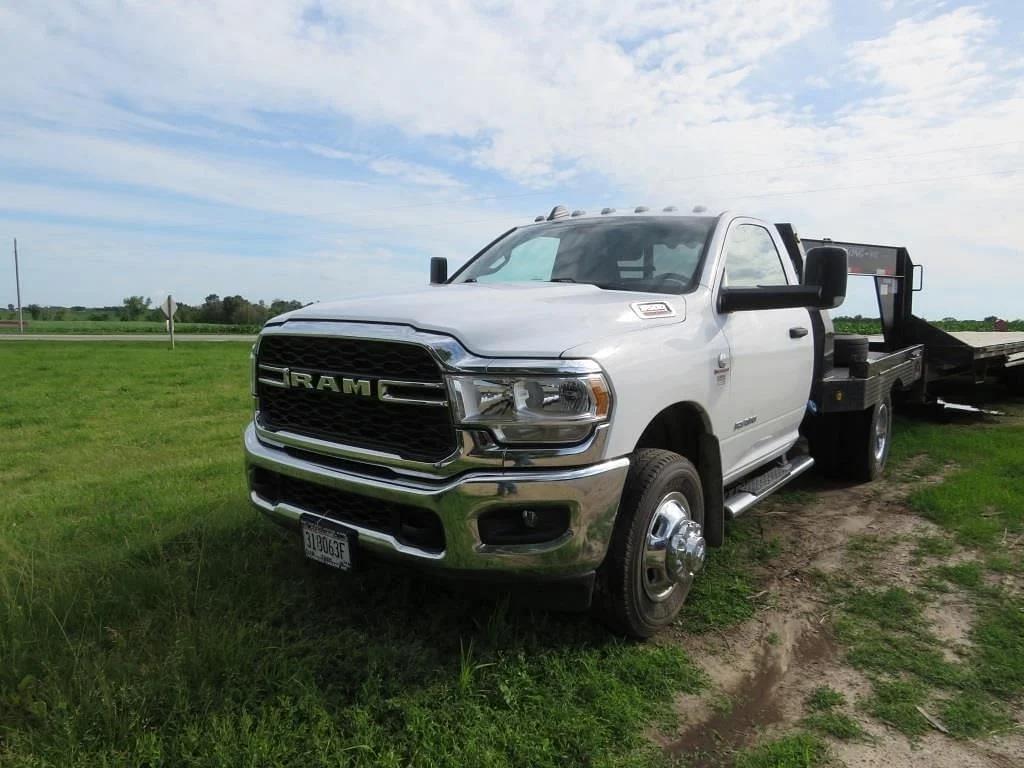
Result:
{"type": "Polygon", "coordinates": [[[700,524],[692,519],[686,497],[678,492],[657,505],[647,526],[640,583],[654,602],[689,592],[693,577],[703,567],[707,545],[700,524]]]}

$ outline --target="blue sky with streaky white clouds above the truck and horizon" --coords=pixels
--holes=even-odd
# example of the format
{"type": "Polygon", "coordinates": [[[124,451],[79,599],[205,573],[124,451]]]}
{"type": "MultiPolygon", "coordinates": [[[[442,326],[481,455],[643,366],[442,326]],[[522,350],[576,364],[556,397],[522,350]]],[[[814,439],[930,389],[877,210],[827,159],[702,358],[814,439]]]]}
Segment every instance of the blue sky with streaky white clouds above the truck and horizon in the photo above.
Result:
{"type": "Polygon", "coordinates": [[[562,202],[903,244],[921,312],[1024,316],[1024,4],[265,5],[0,7],[26,303],[403,289],[562,202]]]}

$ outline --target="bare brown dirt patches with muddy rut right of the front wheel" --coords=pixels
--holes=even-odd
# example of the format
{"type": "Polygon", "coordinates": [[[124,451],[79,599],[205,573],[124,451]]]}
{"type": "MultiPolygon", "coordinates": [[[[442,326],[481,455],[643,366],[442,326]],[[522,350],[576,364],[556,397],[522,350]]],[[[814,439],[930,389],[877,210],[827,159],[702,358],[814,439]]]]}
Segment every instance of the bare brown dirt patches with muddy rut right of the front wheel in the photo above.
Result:
{"type": "MultiPolygon", "coordinates": [[[[914,478],[905,472],[857,486],[812,480],[804,486],[813,492],[809,501],[774,502],[752,510],[765,540],[777,538],[781,545],[757,596],[764,607],[727,632],[697,637],[680,633],[678,641],[713,683],[708,692],[678,699],[681,732],[657,737],[669,754],[687,765],[730,765],[734,750],[798,728],[807,714],[804,702],[815,688],[830,686],[850,702],[869,692],[868,680],[844,663],[844,649],[833,636],[833,608],[814,586],[814,577],[842,573],[856,580],[857,554],[851,545],[857,550],[873,543],[880,548],[870,555],[874,578],[881,574],[893,585],[914,583],[927,567],[913,555],[914,542],[937,528],[910,512],[905,500],[913,487],[941,477],[914,478]]],[[[969,642],[970,601],[944,596],[926,617],[950,648],[969,642]]],[[[1016,718],[1020,725],[1020,712],[1016,718]]],[[[859,714],[857,720],[866,738],[831,742],[849,768],[1024,766],[1020,729],[983,741],[935,732],[911,743],[866,715],[859,714]]]]}

